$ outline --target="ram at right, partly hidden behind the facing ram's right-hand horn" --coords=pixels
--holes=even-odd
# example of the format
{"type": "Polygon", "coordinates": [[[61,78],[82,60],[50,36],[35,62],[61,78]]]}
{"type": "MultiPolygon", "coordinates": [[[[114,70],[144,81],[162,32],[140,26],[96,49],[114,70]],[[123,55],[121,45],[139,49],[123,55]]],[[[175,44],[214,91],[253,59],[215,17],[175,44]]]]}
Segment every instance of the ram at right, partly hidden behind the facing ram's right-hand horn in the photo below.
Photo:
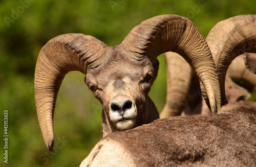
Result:
{"type": "MultiPolygon", "coordinates": [[[[241,58],[242,55],[238,57],[244,52],[255,52],[256,50],[255,18],[256,15],[240,15],[223,20],[212,28],[206,38],[220,79],[222,105],[226,104],[227,100],[233,102],[248,96],[248,92],[235,85],[232,79],[247,82],[250,89],[253,89],[256,85],[256,75],[246,70],[245,65],[243,65],[244,61],[241,58]],[[229,59],[227,59],[228,55],[231,55],[229,59]],[[234,58],[237,60],[235,59],[232,62],[234,58]],[[234,65],[231,65],[228,70],[225,81],[226,70],[231,62],[234,65]],[[226,89],[224,89],[225,87],[226,89]]],[[[185,111],[188,110],[186,112],[188,114],[208,114],[208,107],[205,107],[204,101],[202,105],[202,100],[198,96],[198,91],[200,91],[198,89],[199,81],[193,75],[193,70],[190,66],[182,58],[178,57],[177,53],[172,52],[166,53],[166,62],[168,64],[167,95],[166,104],[160,114],[160,118],[179,116],[185,107],[188,108],[185,108],[185,111]],[[172,54],[172,56],[169,54],[172,54]],[[189,91],[194,91],[194,93],[189,91]],[[185,104],[186,98],[189,98],[189,104],[185,104]]]]}

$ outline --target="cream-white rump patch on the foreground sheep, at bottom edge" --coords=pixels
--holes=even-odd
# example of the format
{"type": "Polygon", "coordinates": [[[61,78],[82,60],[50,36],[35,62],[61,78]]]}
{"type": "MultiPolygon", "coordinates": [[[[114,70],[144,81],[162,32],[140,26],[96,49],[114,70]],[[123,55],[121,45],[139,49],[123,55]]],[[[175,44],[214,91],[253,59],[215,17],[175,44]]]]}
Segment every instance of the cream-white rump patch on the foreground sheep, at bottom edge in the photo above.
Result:
{"type": "Polygon", "coordinates": [[[79,167],[86,166],[136,166],[129,152],[118,142],[112,140],[100,141],[79,167]]]}

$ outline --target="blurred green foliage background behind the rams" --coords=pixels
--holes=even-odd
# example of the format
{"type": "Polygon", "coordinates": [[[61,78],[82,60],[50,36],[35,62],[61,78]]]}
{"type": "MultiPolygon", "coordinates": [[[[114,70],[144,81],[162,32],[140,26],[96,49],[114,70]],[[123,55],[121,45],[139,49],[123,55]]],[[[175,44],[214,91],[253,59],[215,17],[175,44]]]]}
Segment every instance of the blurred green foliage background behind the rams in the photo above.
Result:
{"type": "MultiPolygon", "coordinates": [[[[49,153],[42,140],[34,102],[37,55],[53,37],[66,33],[91,35],[107,45],[120,44],[141,21],[161,14],[192,20],[206,37],[217,22],[256,14],[256,1],[94,0],[0,1],[1,134],[8,110],[8,163],[1,140],[0,166],[78,166],[102,137],[101,105],[84,84],[83,74],[70,72],[60,88],[54,129],[59,149],[49,153]]],[[[166,69],[161,55],[158,78],[150,92],[159,111],[166,95],[166,69]]]]}

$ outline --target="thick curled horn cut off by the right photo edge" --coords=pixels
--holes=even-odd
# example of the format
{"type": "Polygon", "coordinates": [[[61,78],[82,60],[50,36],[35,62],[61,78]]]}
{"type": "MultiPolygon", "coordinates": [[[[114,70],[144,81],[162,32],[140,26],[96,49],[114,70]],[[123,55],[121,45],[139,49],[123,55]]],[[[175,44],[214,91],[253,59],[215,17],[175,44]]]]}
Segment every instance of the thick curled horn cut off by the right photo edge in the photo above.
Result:
{"type": "Polygon", "coordinates": [[[244,52],[256,51],[256,15],[240,15],[218,22],[209,32],[206,41],[221,87],[221,105],[227,103],[225,76],[230,63],[244,52]]]}

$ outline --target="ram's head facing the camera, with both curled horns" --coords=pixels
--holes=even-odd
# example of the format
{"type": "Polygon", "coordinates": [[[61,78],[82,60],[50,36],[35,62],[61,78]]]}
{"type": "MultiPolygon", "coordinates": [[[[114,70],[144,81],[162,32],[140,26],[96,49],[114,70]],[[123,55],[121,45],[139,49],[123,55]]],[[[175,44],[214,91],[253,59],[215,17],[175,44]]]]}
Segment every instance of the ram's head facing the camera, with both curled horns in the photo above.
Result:
{"type": "Polygon", "coordinates": [[[86,84],[101,102],[103,136],[159,118],[148,92],[158,71],[157,56],[174,51],[195,69],[209,98],[220,107],[220,87],[210,49],[189,19],[160,15],[147,19],[120,45],[107,46],[92,36],[66,34],[42,47],[35,68],[35,101],[45,144],[53,150],[53,113],[61,82],[69,71],[86,74],[86,84]]]}

